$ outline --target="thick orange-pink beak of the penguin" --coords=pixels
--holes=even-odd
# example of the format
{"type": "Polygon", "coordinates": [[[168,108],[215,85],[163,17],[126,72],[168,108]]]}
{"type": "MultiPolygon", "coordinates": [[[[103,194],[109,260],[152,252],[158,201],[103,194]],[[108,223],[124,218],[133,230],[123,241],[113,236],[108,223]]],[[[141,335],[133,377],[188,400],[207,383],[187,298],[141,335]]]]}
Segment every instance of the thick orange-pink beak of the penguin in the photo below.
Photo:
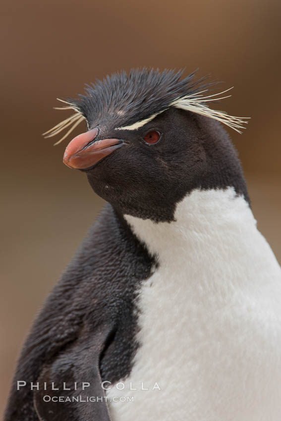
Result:
{"type": "Polygon", "coordinates": [[[95,128],[72,139],[65,149],[63,163],[75,169],[91,168],[123,146],[120,139],[102,139],[94,142],[97,134],[98,129],[95,128]]]}

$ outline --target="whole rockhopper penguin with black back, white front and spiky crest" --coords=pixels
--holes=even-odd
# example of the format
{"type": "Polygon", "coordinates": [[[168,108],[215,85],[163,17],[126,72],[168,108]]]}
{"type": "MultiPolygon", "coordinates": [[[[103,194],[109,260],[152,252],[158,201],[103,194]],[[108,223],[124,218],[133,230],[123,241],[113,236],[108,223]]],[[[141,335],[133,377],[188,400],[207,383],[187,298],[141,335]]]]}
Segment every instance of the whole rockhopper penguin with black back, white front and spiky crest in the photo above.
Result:
{"type": "Polygon", "coordinates": [[[142,69],[65,101],[47,135],[86,121],[64,163],[108,204],[34,323],[5,421],[281,420],[281,268],[220,124],[244,120],[207,91],[142,69]]]}

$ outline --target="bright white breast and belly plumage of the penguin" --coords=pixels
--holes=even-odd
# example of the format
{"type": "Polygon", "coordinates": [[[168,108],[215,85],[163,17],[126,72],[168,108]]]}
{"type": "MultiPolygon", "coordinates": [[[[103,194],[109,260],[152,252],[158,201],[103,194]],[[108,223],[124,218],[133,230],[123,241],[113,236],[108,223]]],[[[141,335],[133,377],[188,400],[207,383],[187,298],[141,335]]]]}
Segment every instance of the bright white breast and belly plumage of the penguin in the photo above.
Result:
{"type": "Polygon", "coordinates": [[[126,219],[160,264],[133,369],[108,391],[134,402],[111,402],[112,420],[280,421],[281,269],[244,199],[196,190],[175,222],[126,219]]]}

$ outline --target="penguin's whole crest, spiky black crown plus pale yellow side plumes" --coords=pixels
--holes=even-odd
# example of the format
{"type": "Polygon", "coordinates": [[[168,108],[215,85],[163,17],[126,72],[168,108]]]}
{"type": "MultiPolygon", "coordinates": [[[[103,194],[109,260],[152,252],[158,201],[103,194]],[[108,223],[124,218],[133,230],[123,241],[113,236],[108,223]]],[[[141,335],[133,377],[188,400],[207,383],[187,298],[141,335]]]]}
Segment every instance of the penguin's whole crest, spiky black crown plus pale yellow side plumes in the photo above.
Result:
{"type": "Polygon", "coordinates": [[[132,69],[129,74],[125,71],[113,73],[102,81],[86,85],[85,93],[78,95],[78,98],[59,100],[66,106],[57,109],[74,109],[75,114],[56,124],[44,135],[53,137],[68,128],[56,142],[58,144],[83,120],[87,121],[88,129],[104,124],[112,129],[133,130],[140,127],[139,123],[145,124],[146,119],[154,118],[170,106],[213,118],[241,133],[248,117],[234,117],[208,106],[209,102],[227,98],[218,96],[231,88],[214,95],[202,95],[210,92],[210,86],[217,82],[206,83],[208,76],[196,80],[195,72],[183,79],[183,70],[175,72],[165,69],[161,72],[159,69],[143,68],[132,69]]]}

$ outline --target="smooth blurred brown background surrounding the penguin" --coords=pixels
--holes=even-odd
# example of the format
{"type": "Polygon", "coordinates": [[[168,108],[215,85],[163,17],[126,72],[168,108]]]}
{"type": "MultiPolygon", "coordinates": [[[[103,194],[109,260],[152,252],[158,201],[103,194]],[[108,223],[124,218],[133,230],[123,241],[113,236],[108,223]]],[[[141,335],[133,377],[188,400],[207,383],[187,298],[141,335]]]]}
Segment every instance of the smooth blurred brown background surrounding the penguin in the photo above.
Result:
{"type": "Polygon", "coordinates": [[[138,66],[199,67],[219,89],[234,85],[219,108],[252,117],[231,136],[281,262],[280,1],[18,0],[1,11],[0,412],[31,321],[103,205],[62,164],[66,142],[41,137],[69,115],[56,97],[138,66]]]}

